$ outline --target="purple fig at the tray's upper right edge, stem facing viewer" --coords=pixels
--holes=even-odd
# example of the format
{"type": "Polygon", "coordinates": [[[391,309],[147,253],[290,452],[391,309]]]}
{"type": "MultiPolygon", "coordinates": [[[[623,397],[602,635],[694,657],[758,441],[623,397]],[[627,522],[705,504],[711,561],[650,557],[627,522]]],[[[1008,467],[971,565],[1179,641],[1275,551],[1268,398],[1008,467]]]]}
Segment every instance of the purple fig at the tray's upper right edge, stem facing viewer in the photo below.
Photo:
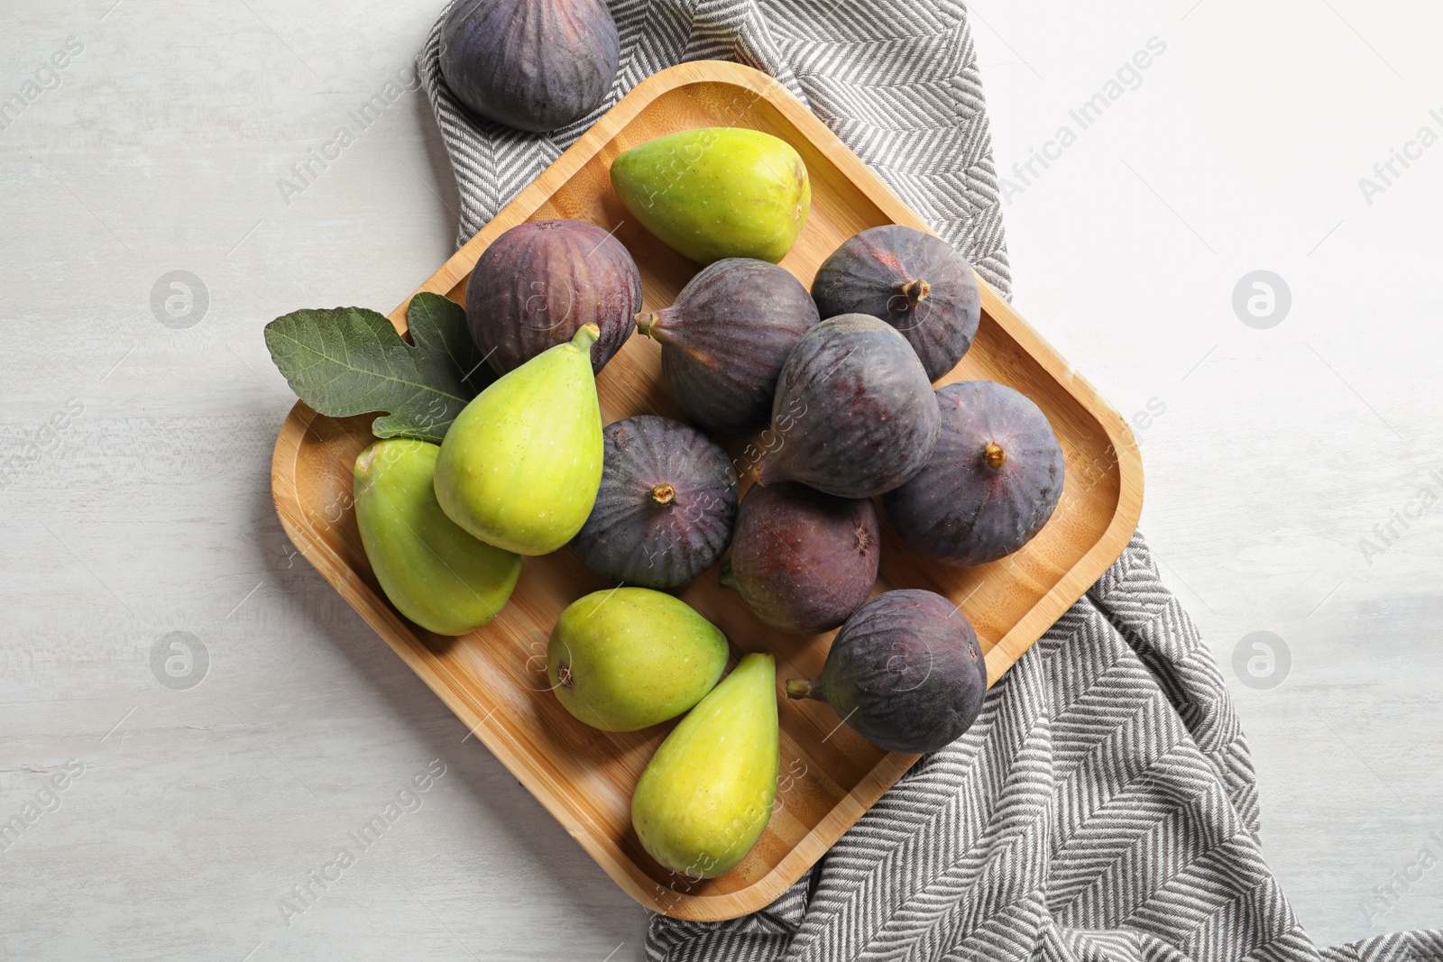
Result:
{"type": "Polygon", "coordinates": [[[915,228],[874,226],[843,242],[812,281],[823,317],[872,314],[902,332],[937,381],[977,336],[977,277],[951,244],[915,228]]]}

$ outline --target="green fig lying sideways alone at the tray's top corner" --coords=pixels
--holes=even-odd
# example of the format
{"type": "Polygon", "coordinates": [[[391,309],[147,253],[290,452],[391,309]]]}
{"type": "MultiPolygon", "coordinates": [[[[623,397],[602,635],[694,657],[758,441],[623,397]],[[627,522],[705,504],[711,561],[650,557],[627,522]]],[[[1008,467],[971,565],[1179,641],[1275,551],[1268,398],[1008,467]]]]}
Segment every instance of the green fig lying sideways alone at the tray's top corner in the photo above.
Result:
{"type": "Polygon", "coordinates": [[[775,264],[811,206],[801,154],[742,127],[684,130],[633,147],[612,162],[612,186],[642,226],[701,264],[775,264]]]}

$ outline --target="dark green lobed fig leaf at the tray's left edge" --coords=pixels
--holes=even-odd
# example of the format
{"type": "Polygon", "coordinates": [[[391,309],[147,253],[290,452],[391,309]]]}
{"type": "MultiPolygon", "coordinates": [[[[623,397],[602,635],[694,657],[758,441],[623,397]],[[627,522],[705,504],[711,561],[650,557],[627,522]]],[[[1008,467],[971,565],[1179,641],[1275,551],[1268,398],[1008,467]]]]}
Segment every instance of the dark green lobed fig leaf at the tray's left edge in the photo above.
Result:
{"type": "Polygon", "coordinates": [[[380,411],[377,437],[439,443],[495,374],[460,304],[423,291],[405,320],[411,343],[365,307],[297,310],[266,325],[266,346],[296,397],[320,414],[380,411]]]}

